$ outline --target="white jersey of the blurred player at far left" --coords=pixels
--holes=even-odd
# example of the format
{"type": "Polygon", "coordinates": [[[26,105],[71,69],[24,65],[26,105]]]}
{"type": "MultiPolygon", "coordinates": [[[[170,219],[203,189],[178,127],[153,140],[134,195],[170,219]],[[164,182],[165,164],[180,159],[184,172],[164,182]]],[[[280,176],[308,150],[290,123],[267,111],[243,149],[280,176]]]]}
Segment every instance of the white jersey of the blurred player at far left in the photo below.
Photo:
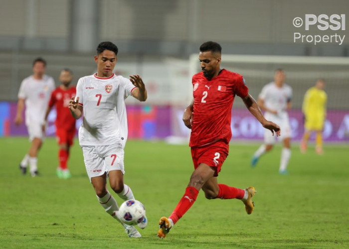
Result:
{"type": "Polygon", "coordinates": [[[41,80],[35,80],[31,75],[20,84],[18,98],[25,100],[25,124],[42,124],[50,100],[55,89],[52,77],[43,75],[41,80]]]}

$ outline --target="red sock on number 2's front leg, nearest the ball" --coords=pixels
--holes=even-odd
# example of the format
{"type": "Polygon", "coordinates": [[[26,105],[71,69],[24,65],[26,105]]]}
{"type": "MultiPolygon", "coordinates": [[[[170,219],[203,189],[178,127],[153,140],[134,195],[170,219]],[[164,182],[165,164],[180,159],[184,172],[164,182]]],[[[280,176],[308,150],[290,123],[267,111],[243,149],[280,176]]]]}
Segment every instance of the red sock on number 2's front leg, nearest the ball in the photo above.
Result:
{"type": "Polygon", "coordinates": [[[187,187],[185,189],[185,194],[178,202],[177,206],[174,209],[174,212],[170,215],[170,219],[174,224],[189,210],[189,208],[196,201],[196,197],[199,191],[194,187],[187,187]]]}

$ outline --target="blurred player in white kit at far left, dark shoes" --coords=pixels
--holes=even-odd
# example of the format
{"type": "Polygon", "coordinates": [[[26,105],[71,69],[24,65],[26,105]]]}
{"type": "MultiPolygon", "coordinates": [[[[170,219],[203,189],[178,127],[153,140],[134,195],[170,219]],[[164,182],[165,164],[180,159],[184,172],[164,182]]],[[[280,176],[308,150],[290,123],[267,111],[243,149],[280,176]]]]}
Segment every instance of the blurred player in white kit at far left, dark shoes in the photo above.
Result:
{"type": "Polygon", "coordinates": [[[29,133],[31,146],[27,154],[19,164],[22,174],[26,173],[29,164],[31,176],[37,176],[37,154],[42,145],[45,131],[42,125],[45,123],[44,116],[54,90],[54,80],[45,75],[46,61],[36,58],[33,61],[33,74],[25,78],[19,88],[17,115],[14,120],[16,125],[23,123],[22,112],[25,103],[25,125],[29,133]]]}

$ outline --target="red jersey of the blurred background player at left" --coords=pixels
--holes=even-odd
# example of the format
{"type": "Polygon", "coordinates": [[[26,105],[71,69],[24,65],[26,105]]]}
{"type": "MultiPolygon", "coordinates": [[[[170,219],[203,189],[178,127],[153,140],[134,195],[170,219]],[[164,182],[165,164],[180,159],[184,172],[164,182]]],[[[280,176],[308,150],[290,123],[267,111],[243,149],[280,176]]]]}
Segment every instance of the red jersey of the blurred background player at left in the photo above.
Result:
{"type": "Polygon", "coordinates": [[[57,87],[51,94],[50,102],[48,106],[52,108],[56,106],[57,118],[56,118],[56,128],[72,130],[75,129],[75,119],[70,114],[69,111],[69,100],[76,95],[75,87],[71,87],[68,90],[62,90],[57,87]]]}

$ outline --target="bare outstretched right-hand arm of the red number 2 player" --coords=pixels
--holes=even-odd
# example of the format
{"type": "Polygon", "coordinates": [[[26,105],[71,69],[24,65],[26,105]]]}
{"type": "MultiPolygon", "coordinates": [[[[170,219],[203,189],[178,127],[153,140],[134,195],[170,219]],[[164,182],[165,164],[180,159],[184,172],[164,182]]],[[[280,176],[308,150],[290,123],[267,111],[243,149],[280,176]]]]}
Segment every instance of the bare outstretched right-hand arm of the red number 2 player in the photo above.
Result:
{"type": "Polygon", "coordinates": [[[269,129],[271,133],[274,135],[274,132],[277,136],[280,135],[280,127],[273,122],[267,121],[261,110],[259,109],[256,101],[252,98],[250,94],[248,94],[245,98],[242,99],[248,111],[263,125],[264,128],[269,129]]]}

